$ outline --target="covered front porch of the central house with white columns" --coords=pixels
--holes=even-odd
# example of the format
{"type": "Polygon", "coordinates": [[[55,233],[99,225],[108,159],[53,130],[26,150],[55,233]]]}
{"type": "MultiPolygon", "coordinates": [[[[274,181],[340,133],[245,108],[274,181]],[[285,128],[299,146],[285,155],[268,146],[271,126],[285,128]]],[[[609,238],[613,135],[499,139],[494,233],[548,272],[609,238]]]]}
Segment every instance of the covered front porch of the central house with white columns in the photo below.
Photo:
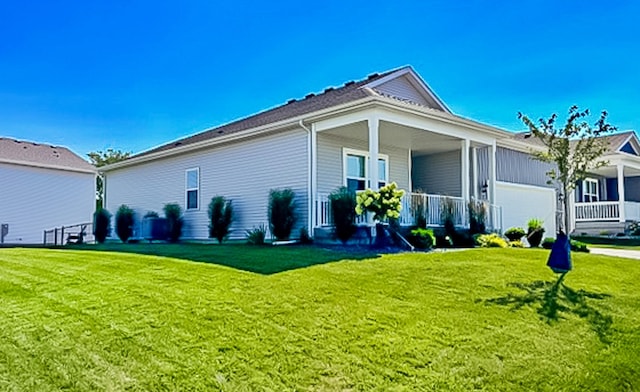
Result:
{"type": "Polygon", "coordinates": [[[406,191],[401,225],[415,225],[422,214],[428,226],[441,226],[448,205],[455,225],[468,227],[473,200],[484,209],[487,228],[502,230],[494,202],[495,139],[471,126],[375,110],[313,123],[311,138],[313,228],[332,225],[329,194],[337,188],[357,192],[396,182],[406,191]],[[480,149],[487,156],[482,162],[480,149]]]}

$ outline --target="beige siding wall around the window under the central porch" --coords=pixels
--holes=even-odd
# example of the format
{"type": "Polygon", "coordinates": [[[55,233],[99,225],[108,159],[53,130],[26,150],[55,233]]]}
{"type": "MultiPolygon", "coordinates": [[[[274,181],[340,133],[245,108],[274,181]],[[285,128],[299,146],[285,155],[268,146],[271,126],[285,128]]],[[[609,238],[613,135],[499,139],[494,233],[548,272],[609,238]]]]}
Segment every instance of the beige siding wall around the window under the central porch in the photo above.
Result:
{"type": "MultiPolygon", "coordinates": [[[[335,135],[318,134],[318,193],[328,194],[344,185],[343,149],[368,151],[367,142],[335,135]]],[[[389,159],[388,180],[409,189],[409,150],[381,145],[380,154],[389,159]]]]}

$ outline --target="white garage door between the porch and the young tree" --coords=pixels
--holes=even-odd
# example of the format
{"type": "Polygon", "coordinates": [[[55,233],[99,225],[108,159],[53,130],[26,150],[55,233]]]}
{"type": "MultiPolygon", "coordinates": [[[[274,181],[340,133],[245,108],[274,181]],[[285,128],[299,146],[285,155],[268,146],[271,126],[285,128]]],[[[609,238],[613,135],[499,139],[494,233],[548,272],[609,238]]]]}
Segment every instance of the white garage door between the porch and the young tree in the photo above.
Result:
{"type": "Polygon", "coordinates": [[[527,229],[527,221],[544,221],[545,237],[556,233],[556,191],[533,185],[496,183],[496,204],[502,206],[502,227],[527,229]]]}

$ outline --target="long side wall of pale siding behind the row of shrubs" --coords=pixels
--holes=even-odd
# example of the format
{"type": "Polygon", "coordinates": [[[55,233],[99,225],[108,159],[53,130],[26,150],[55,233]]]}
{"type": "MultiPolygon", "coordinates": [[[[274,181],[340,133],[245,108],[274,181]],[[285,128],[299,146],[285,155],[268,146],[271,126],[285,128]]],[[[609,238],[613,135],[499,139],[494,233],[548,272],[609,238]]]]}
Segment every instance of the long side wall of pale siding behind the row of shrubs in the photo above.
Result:
{"type": "Polygon", "coordinates": [[[198,167],[201,208],[185,213],[183,238],[208,238],[207,207],[216,195],[233,201],[231,238],[245,238],[246,230],[267,225],[269,190],[276,188],[295,192],[295,238],[307,224],[307,146],[308,134],[300,129],[115,170],[107,173],[107,209],[134,208],[136,229],[147,211],[162,216],[166,203],[179,203],[184,210],[185,171],[198,167]]]}

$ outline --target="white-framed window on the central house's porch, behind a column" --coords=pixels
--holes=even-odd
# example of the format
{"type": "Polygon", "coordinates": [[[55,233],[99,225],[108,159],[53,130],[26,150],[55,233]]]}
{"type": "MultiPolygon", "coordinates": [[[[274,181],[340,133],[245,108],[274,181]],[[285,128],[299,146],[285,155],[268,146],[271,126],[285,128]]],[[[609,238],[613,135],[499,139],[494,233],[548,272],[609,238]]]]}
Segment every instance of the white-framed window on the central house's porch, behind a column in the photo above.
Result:
{"type": "MultiPolygon", "coordinates": [[[[378,187],[387,185],[389,157],[378,154],[378,187]]],[[[344,149],[344,182],[352,191],[361,191],[369,186],[369,153],[344,149]]]]}

